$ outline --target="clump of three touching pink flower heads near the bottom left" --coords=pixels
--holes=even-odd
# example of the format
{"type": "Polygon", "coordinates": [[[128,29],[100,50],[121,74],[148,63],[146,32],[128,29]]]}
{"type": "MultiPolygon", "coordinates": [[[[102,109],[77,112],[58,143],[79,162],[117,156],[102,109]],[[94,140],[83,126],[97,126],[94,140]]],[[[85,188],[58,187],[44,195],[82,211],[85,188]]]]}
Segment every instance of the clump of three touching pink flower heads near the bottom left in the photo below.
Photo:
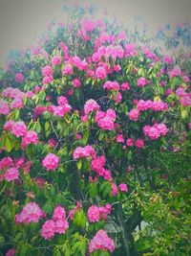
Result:
{"type": "Polygon", "coordinates": [[[55,233],[65,234],[68,227],[65,209],[61,206],[56,206],[53,211],[53,220],[45,221],[40,233],[44,239],[50,240],[55,233]]]}

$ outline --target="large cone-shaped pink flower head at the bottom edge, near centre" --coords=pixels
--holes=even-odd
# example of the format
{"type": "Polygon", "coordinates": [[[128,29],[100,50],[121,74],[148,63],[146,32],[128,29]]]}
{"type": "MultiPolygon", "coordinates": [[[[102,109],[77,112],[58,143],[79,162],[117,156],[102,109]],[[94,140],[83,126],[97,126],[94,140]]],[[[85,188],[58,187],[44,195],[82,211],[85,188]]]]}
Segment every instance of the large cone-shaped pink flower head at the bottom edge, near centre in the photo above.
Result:
{"type": "Polygon", "coordinates": [[[96,250],[108,250],[111,253],[115,250],[114,241],[108,237],[106,231],[103,229],[98,230],[96,236],[91,240],[89,244],[90,253],[96,250]]]}

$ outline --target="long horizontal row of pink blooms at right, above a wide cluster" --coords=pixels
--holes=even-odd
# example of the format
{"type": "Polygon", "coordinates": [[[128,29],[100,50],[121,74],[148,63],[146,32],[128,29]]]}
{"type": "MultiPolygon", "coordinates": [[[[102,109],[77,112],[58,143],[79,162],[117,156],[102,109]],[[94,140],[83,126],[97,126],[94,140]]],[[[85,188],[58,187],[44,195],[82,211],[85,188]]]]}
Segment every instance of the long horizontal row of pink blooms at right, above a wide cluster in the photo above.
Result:
{"type": "Polygon", "coordinates": [[[168,105],[166,103],[163,103],[162,101],[155,101],[152,102],[151,100],[140,100],[138,101],[138,110],[147,110],[151,109],[153,111],[165,111],[168,109],[168,105]]]}

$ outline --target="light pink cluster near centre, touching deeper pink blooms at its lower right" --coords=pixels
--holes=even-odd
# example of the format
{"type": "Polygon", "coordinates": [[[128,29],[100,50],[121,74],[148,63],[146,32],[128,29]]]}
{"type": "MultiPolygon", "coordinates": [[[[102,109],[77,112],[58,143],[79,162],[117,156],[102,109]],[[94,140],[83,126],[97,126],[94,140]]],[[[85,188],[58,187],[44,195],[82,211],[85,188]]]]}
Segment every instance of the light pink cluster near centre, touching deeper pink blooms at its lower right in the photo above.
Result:
{"type": "Polygon", "coordinates": [[[88,145],[84,148],[77,147],[73,152],[73,157],[74,157],[74,159],[88,158],[88,157],[92,157],[94,159],[96,157],[96,151],[90,145],[88,145]]]}

